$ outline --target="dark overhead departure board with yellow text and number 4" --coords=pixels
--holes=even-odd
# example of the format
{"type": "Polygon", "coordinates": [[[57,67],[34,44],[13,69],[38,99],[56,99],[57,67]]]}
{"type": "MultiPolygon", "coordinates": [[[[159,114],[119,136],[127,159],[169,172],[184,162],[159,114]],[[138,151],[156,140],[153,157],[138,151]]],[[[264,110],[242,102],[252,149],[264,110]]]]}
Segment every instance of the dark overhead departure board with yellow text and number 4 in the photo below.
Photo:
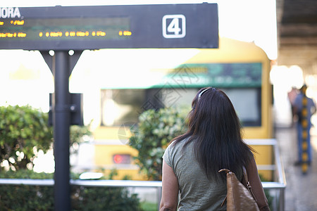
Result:
{"type": "Polygon", "coordinates": [[[218,6],[0,8],[0,49],[113,48],[218,48],[218,6]]]}

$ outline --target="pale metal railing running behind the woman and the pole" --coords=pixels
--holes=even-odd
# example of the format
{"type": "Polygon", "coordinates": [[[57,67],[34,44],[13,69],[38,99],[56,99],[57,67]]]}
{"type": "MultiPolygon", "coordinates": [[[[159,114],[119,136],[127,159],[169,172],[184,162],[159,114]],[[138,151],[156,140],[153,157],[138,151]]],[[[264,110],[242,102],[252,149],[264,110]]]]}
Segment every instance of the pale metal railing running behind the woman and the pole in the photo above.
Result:
{"type": "MultiPolygon", "coordinates": [[[[258,165],[259,170],[272,170],[274,181],[263,181],[265,190],[277,191],[273,197],[273,210],[283,211],[285,207],[285,171],[280,158],[280,151],[275,139],[248,139],[246,142],[251,146],[273,146],[274,165],[258,165]]],[[[33,186],[53,186],[53,179],[0,179],[1,184],[12,185],[33,185],[33,186]]],[[[70,180],[71,185],[75,186],[108,186],[108,187],[130,187],[130,188],[156,188],[158,206],[161,200],[161,181],[132,181],[132,180],[70,180]]]]}

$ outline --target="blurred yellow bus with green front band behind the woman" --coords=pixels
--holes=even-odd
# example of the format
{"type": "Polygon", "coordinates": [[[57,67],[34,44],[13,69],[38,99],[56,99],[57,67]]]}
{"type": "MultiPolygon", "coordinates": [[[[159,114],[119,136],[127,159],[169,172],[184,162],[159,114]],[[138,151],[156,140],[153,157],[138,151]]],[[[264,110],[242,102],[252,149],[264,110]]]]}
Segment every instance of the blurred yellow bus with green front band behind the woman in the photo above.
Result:
{"type": "MultiPolygon", "coordinates": [[[[153,52],[142,51],[148,51],[148,56],[153,52]]],[[[175,58],[173,65],[167,68],[156,63],[133,77],[129,69],[117,72],[116,78],[109,75],[99,90],[99,124],[93,131],[95,167],[106,174],[116,169],[118,175],[114,179],[123,179],[125,175],[129,179],[144,179],[133,162],[137,151],[128,145],[130,126],[137,123],[144,110],[190,105],[201,87],[217,87],[228,94],[242,122],[244,139],[273,137],[271,61],[266,53],[254,43],[225,37],[220,37],[219,49],[192,49],[190,52],[183,56],[185,60],[175,61],[175,58]],[[118,75],[128,77],[129,82],[118,79],[118,75]]],[[[143,58],[138,59],[142,61],[143,58]]],[[[146,60],[145,56],[144,62],[146,60]]],[[[161,63],[168,62],[161,60],[161,63]]],[[[270,146],[253,147],[259,153],[256,155],[258,165],[272,165],[270,146]]],[[[271,171],[260,170],[260,173],[271,179],[271,171]]]]}

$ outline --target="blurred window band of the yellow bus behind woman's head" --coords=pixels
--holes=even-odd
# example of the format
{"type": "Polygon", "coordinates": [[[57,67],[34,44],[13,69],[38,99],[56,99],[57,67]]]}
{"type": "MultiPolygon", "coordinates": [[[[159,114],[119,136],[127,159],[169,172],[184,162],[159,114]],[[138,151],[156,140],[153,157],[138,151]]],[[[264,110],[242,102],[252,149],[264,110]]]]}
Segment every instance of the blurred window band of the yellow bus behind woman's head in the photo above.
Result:
{"type": "MultiPolygon", "coordinates": [[[[261,88],[220,88],[232,101],[243,126],[261,126],[261,88]]],[[[144,110],[190,106],[199,88],[101,89],[101,126],[138,122],[144,110]]]]}

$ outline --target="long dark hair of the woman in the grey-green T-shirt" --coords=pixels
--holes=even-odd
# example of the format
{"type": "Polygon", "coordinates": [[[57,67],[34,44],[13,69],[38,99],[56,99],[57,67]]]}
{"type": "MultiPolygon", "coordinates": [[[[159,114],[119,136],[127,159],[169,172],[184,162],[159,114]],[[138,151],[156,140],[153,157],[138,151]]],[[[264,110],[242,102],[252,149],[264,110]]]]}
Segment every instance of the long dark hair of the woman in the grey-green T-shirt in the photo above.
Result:
{"type": "MultiPolygon", "coordinates": [[[[253,151],[241,135],[241,124],[228,96],[216,88],[200,89],[192,101],[188,130],[172,141],[194,141],[194,154],[208,178],[218,178],[218,170],[227,168],[242,172],[253,151]]],[[[222,175],[225,179],[225,174],[222,175]]]]}

